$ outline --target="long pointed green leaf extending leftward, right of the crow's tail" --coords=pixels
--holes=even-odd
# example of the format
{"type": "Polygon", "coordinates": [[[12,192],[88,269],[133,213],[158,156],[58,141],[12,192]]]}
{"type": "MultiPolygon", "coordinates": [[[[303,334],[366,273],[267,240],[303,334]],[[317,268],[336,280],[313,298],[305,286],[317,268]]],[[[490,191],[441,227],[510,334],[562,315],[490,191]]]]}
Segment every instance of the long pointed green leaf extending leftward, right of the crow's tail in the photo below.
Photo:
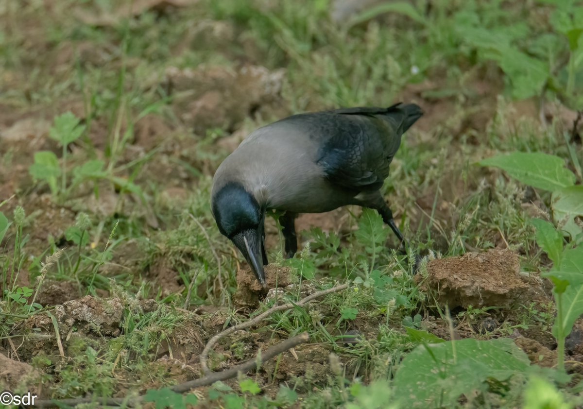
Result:
{"type": "Polygon", "coordinates": [[[575,175],[565,167],[563,159],[542,152],[513,152],[484,159],[479,164],[500,168],[525,185],[544,191],[553,192],[575,183],[575,175]]]}

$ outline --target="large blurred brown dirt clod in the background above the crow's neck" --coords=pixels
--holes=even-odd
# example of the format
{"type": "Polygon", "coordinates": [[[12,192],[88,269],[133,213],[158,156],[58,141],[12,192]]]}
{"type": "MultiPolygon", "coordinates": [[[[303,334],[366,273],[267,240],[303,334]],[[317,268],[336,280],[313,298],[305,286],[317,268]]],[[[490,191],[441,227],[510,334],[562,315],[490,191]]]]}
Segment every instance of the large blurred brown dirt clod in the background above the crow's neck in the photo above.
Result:
{"type": "Polygon", "coordinates": [[[227,128],[265,108],[282,106],[284,69],[244,65],[238,69],[205,66],[196,70],[170,67],[166,70],[168,93],[174,93],[174,108],[184,124],[204,135],[206,129],[227,128]],[[182,96],[181,94],[184,94],[182,96]]]}

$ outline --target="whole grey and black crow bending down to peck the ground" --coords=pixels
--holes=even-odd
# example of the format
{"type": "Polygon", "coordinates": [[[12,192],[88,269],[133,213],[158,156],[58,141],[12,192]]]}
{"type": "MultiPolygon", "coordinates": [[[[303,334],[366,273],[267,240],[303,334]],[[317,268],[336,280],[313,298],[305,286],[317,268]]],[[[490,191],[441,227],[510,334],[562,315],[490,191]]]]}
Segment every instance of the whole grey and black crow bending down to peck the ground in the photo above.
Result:
{"type": "Polygon", "coordinates": [[[402,134],[422,114],[415,104],[345,108],[293,115],[257,129],[213,178],[212,211],[219,230],[243,252],[262,283],[258,258],[267,262],[262,241],[268,209],[286,211],[287,256],[297,250],[293,222],[298,213],[345,205],[378,210],[403,240],[379,189],[402,134]]]}

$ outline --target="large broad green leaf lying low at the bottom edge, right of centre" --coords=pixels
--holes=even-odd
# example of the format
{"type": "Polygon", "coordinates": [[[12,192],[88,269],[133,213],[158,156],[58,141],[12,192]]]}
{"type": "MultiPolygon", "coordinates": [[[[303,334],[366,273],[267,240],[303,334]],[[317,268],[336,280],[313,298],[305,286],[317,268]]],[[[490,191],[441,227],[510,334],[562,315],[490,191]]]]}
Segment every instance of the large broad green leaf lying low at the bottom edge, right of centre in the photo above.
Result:
{"type": "Polygon", "coordinates": [[[419,345],[395,375],[395,398],[413,408],[455,407],[460,396],[488,379],[507,380],[529,365],[528,356],[507,338],[419,345]]]}

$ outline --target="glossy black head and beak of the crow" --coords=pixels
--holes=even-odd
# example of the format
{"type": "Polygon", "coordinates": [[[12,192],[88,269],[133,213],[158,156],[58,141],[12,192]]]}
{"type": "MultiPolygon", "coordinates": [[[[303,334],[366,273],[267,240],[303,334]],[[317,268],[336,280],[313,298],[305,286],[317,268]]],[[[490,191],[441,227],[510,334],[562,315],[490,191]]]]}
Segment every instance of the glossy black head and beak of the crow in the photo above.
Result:
{"type": "Polygon", "coordinates": [[[212,212],[221,234],[243,253],[257,279],[265,285],[265,209],[243,185],[231,182],[213,197],[212,212]]]}

